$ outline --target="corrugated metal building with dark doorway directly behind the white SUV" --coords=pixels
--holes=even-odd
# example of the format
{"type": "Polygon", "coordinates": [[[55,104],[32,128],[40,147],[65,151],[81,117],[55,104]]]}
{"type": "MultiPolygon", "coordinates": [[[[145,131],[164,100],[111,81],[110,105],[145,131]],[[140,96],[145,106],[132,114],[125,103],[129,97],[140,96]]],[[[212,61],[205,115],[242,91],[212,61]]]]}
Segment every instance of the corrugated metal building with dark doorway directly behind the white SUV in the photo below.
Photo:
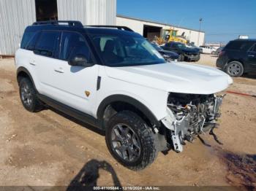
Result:
{"type": "Polygon", "coordinates": [[[56,19],[116,25],[116,0],[0,0],[0,55],[14,55],[26,26],[56,19]]]}

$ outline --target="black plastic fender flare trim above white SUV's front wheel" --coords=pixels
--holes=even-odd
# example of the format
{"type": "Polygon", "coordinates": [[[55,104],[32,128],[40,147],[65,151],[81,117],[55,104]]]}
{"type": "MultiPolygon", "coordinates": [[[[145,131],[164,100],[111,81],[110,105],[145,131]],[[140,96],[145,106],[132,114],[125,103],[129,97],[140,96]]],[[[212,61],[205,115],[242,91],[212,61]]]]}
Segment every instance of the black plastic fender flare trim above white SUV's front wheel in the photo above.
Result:
{"type": "Polygon", "coordinates": [[[134,106],[135,108],[140,110],[140,112],[143,112],[143,114],[145,114],[145,116],[148,118],[148,120],[151,122],[152,125],[157,127],[161,125],[159,120],[157,120],[157,117],[150,111],[150,109],[148,109],[147,106],[140,103],[140,101],[136,100],[135,98],[132,98],[128,95],[119,95],[119,94],[110,95],[99,104],[99,107],[97,109],[97,118],[102,119],[107,106],[116,101],[121,101],[134,106]]]}

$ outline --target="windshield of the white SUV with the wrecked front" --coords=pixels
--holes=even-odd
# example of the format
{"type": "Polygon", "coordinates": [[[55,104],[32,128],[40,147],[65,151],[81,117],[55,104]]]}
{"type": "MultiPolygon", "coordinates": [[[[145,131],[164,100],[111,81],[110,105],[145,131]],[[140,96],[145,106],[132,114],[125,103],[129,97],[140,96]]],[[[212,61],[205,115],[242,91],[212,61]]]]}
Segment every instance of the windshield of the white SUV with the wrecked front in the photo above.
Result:
{"type": "Polygon", "coordinates": [[[106,66],[141,66],[165,63],[165,59],[142,36],[124,34],[92,36],[106,66]]]}

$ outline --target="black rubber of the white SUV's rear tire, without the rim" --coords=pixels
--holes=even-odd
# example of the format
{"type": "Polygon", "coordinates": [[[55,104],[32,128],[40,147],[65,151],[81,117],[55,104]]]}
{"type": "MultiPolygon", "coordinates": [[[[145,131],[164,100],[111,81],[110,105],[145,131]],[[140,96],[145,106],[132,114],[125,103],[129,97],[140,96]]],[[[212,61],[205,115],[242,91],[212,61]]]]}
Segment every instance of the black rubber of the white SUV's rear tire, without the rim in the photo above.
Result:
{"type": "Polygon", "coordinates": [[[34,89],[34,85],[32,84],[30,79],[28,79],[26,77],[23,77],[22,79],[20,79],[19,90],[20,90],[20,101],[26,110],[28,110],[29,112],[39,112],[44,108],[42,102],[39,101],[39,98],[37,97],[37,92],[34,89]],[[23,101],[23,98],[21,95],[22,88],[24,87],[24,85],[26,85],[26,87],[28,87],[30,95],[31,95],[31,103],[30,104],[26,104],[23,101]]]}

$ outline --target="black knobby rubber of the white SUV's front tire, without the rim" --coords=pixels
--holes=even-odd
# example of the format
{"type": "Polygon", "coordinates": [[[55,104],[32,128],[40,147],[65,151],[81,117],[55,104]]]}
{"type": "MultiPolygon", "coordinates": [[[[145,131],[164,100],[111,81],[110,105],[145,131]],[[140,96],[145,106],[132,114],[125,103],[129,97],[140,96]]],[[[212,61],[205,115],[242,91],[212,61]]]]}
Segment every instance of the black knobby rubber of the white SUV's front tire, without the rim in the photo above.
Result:
{"type": "Polygon", "coordinates": [[[133,171],[139,171],[146,168],[157,158],[157,139],[146,122],[134,112],[122,111],[111,117],[107,123],[105,139],[111,155],[113,155],[121,165],[124,165],[133,171]],[[141,146],[141,152],[138,160],[128,162],[120,157],[113,148],[111,143],[111,133],[113,128],[118,124],[129,125],[129,127],[137,134],[141,146]]]}

